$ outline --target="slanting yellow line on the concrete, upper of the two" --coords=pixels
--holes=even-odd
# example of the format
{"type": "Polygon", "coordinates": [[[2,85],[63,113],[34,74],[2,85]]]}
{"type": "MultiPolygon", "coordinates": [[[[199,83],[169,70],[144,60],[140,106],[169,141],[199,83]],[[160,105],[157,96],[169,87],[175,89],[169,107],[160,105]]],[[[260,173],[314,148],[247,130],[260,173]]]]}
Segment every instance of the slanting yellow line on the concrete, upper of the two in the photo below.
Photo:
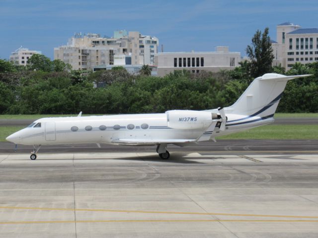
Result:
{"type": "Polygon", "coordinates": [[[288,215],[260,215],[260,214],[231,214],[231,213],[200,213],[200,212],[163,212],[163,211],[138,211],[138,210],[109,210],[109,209],[74,209],[74,208],[38,208],[38,207],[0,207],[0,209],[25,209],[25,210],[56,210],[56,211],[85,211],[85,212],[120,212],[120,213],[159,213],[159,214],[187,214],[187,215],[220,215],[238,217],[281,217],[281,218],[308,218],[318,216],[288,216],[288,215]]]}

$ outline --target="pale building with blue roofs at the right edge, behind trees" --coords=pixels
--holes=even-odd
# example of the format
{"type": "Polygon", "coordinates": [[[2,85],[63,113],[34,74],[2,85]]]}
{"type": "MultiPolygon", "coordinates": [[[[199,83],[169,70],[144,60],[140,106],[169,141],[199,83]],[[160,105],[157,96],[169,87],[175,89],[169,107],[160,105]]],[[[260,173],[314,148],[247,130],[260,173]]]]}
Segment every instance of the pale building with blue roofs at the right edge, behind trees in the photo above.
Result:
{"type": "Polygon", "coordinates": [[[296,63],[318,61],[318,28],[301,28],[290,22],[276,26],[276,41],[272,42],[273,66],[290,70],[296,63]]]}

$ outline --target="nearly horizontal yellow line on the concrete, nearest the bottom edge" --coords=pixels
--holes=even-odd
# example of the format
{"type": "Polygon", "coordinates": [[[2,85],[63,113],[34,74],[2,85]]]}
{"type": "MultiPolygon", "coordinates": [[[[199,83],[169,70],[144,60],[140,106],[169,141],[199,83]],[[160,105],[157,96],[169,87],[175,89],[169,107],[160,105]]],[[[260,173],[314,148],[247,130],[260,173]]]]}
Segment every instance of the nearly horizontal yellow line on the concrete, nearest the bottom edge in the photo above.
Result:
{"type": "Polygon", "coordinates": [[[115,223],[115,222],[318,222],[318,220],[96,220],[96,221],[18,221],[0,222],[0,224],[36,224],[36,223],[115,223]]]}

